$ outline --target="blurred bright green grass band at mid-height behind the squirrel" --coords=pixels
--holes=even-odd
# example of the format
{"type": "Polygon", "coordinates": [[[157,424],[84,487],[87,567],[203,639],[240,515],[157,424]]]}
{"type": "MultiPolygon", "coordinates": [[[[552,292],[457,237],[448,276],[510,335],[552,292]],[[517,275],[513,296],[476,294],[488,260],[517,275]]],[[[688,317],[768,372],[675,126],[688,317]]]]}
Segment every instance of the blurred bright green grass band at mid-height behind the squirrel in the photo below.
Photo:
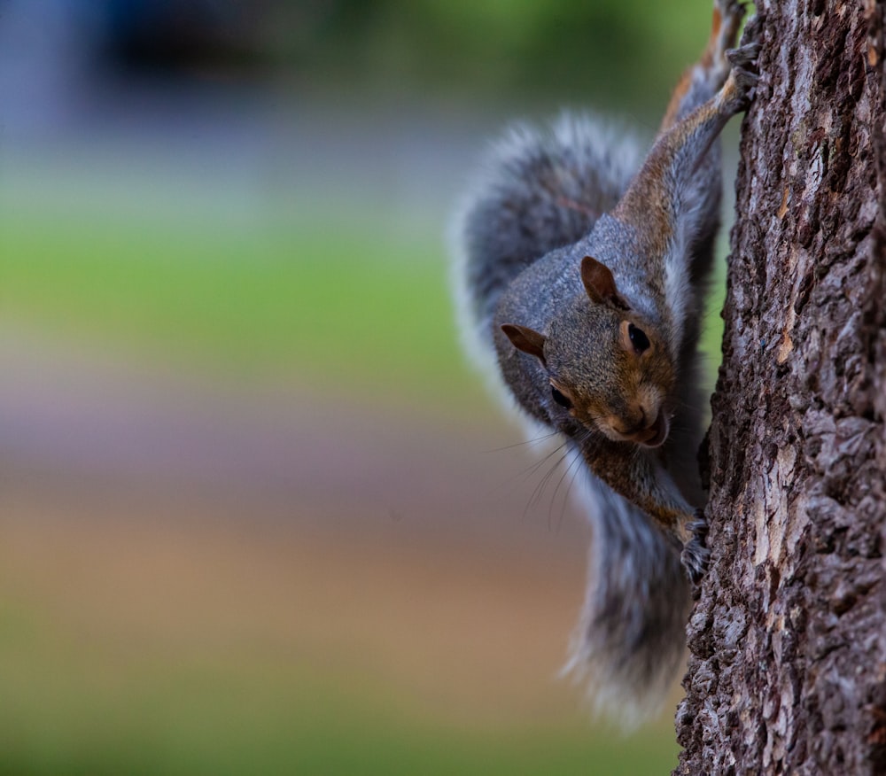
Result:
{"type": "MultiPolygon", "coordinates": [[[[442,237],[352,224],[199,229],[55,219],[4,224],[7,321],[224,376],[329,392],[392,390],[455,406],[478,381],[460,353],[442,237]]],[[[722,283],[703,348],[719,361],[722,283]]]]}

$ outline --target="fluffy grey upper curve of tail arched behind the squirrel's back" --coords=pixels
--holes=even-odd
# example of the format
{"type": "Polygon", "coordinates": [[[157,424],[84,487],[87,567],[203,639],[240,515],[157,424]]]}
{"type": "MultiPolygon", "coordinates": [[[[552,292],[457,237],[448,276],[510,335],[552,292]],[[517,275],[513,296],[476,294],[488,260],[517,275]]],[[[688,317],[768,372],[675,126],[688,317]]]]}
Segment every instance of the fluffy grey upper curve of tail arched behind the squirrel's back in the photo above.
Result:
{"type": "Polygon", "coordinates": [[[489,149],[450,233],[460,318],[492,338],[501,293],[555,248],[585,237],[625,193],[640,150],[624,129],[563,113],[516,124],[489,149]]]}

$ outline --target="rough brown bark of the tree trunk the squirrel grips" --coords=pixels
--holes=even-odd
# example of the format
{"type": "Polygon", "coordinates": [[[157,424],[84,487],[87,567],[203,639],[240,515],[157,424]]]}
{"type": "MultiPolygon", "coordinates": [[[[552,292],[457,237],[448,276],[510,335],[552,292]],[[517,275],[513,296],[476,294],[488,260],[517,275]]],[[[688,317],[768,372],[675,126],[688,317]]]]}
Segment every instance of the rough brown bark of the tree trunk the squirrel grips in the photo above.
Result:
{"type": "Polygon", "coordinates": [[[676,773],[886,773],[883,3],[758,8],[676,773]]]}

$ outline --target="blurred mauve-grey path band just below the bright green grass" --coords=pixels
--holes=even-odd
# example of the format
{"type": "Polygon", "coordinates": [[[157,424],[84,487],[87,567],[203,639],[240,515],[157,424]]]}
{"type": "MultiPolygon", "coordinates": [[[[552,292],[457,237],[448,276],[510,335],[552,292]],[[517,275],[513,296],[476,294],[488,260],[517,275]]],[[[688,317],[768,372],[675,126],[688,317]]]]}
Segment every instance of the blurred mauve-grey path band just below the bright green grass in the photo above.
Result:
{"type": "Polygon", "coordinates": [[[542,539],[584,555],[546,450],[488,417],[428,416],[303,389],[189,379],[7,333],[0,461],[35,483],[115,482],[273,505],[348,530],[542,539]],[[536,494],[537,495],[537,494],[536,494]],[[574,547],[570,549],[571,547],[574,547]]]}

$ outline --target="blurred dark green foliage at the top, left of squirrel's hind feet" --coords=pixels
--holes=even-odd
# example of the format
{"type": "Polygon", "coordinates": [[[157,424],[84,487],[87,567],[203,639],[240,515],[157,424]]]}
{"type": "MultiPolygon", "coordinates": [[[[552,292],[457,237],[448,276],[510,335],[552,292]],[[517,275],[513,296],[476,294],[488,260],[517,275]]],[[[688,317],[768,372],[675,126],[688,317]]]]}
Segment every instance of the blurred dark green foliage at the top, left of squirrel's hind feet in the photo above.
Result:
{"type": "MultiPolygon", "coordinates": [[[[378,80],[470,84],[478,91],[595,89],[618,95],[631,84],[667,89],[661,74],[687,64],[680,52],[703,41],[707,4],[680,0],[394,0],[316,3],[302,11],[304,35],[279,51],[305,72],[378,80]],[[663,67],[649,68],[649,61],[663,67]]],[[[281,3],[284,11],[304,4],[281,3]]],[[[299,25],[300,27],[300,25],[299,25]]],[[[285,29],[281,27],[281,30],[285,29]]]]}

